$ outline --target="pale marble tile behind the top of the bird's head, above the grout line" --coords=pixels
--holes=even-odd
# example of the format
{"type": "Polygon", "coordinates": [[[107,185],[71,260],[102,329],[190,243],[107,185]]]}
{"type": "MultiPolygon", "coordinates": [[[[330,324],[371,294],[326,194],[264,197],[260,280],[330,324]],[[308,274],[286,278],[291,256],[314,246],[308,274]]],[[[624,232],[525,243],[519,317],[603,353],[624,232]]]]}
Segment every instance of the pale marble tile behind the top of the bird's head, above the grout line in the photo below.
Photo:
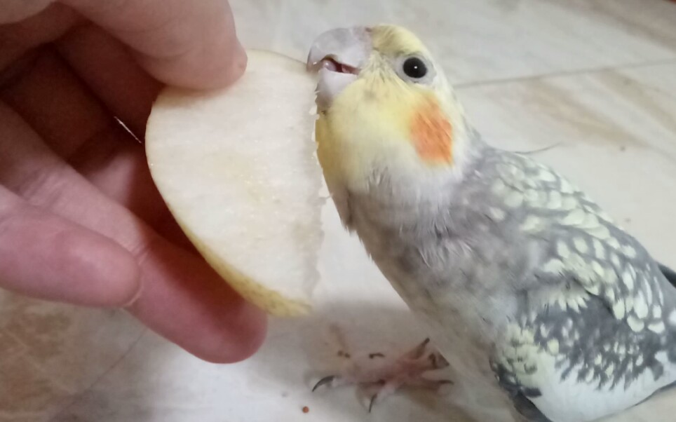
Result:
{"type": "Polygon", "coordinates": [[[455,82],[512,79],[676,57],[664,0],[234,0],[245,46],[304,60],[320,32],[392,22],[437,52],[455,82]],[[593,6],[587,6],[593,4],[593,6]],[[618,6],[622,4],[623,6],[618,6]]]}

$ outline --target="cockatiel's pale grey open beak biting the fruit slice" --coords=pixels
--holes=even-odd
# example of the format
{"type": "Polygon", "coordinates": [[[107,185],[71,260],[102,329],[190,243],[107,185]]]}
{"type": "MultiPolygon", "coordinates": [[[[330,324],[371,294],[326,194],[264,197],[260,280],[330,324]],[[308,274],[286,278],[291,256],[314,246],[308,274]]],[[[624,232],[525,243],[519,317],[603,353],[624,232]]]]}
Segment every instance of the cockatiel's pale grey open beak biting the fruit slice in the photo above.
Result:
{"type": "Polygon", "coordinates": [[[324,32],[312,44],[307,69],[318,72],[317,107],[331,107],[337,95],[356,81],[372,51],[370,29],[352,27],[324,32]]]}

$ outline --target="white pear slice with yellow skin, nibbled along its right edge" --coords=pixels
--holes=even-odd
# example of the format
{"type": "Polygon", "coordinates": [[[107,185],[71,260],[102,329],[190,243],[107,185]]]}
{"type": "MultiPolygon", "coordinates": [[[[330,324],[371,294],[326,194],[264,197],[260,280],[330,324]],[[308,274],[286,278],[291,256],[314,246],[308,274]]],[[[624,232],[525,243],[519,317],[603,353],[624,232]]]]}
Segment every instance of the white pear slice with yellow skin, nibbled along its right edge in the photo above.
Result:
{"type": "Polygon", "coordinates": [[[302,315],[323,240],[316,79],[289,57],[248,57],[234,86],[161,93],[148,162],[182,230],[227,283],[271,315],[302,315]]]}

